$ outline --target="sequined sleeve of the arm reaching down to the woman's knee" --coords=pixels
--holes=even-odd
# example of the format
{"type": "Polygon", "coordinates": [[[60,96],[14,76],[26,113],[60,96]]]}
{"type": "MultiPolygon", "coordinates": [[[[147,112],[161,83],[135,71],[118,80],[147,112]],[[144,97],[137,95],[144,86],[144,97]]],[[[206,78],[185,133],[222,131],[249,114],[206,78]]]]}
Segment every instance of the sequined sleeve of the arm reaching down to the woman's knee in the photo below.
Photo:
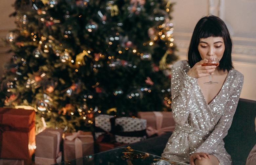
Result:
{"type": "Polygon", "coordinates": [[[243,87],[244,76],[239,74],[233,81],[231,95],[229,96],[224,108],[224,113],[221,116],[218,123],[215,125],[213,132],[210,136],[201,144],[201,146],[195,150],[195,153],[205,152],[213,153],[216,151],[218,144],[227,135],[227,132],[232,124],[233,116],[235,114],[239,96],[243,87]]]}

